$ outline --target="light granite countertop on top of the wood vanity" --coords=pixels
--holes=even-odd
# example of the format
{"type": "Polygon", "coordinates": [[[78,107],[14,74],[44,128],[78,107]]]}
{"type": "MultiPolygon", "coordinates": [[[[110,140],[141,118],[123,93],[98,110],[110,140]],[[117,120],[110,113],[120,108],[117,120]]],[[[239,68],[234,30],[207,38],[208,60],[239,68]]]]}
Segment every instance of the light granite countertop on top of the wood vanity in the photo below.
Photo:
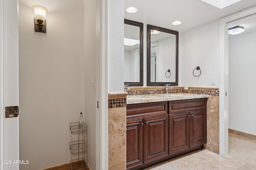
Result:
{"type": "Polygon", "coordinates": [[[130,95],[126,97],[126,104],[150,103],[158,101],[174,101],[185,99],[208,98],[209,95],[191,94],[191,93],[169,93],[154,95],[130,95]]]}

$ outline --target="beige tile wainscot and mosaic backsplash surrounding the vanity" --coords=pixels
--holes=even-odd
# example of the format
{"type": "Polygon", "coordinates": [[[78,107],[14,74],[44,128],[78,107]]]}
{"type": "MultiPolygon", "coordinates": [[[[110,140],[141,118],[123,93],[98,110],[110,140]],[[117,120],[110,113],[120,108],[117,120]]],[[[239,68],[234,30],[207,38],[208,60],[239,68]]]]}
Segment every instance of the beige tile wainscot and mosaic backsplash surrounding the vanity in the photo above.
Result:
{"type": "MultiPolygon", "coordinates": [[[[126,169],[126,96],[166,93],[165,87],[131,87],[126,92],[108,95],[108,169],[126,169]]],[[[168,93],[210,95],[207,102],[207,144],[205,148],[219,154],[219,89],[173,87],[168,93]]]]}

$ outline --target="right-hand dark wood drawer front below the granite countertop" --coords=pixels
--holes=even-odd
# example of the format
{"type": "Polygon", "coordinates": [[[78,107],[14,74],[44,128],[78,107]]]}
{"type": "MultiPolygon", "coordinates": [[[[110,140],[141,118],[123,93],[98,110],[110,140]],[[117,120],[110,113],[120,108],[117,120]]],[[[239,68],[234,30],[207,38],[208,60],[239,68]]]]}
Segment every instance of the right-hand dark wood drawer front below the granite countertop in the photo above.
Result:
{"type": "Polygon", "coordinates": [[[170,101],[169,113],[206,109],[206,105],[206,98],[170,101]]]}

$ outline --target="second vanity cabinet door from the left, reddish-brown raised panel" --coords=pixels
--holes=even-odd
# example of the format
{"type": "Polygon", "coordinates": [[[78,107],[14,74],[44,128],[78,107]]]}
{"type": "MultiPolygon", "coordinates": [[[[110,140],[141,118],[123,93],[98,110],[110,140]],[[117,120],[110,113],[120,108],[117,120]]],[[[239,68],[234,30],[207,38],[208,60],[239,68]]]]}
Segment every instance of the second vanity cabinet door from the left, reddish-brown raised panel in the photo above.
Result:
{"type": "Polygon", "coordinates": [[[168,155],[168,115],[144,118],[144,162],[168,155]]]}

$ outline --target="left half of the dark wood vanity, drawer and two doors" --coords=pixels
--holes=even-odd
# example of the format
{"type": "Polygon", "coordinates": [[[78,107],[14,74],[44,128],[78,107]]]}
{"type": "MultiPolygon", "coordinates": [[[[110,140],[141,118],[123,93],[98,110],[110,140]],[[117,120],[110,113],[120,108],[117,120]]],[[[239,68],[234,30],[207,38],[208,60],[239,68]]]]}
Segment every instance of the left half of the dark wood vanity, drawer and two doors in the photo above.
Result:
{"type": "Polygon", "coordinates": [[[127,169],[168,155],[167,102],[153,105],[154,109],[149,109],[152,108],[152,103],[127,106],[127,169]]]}

